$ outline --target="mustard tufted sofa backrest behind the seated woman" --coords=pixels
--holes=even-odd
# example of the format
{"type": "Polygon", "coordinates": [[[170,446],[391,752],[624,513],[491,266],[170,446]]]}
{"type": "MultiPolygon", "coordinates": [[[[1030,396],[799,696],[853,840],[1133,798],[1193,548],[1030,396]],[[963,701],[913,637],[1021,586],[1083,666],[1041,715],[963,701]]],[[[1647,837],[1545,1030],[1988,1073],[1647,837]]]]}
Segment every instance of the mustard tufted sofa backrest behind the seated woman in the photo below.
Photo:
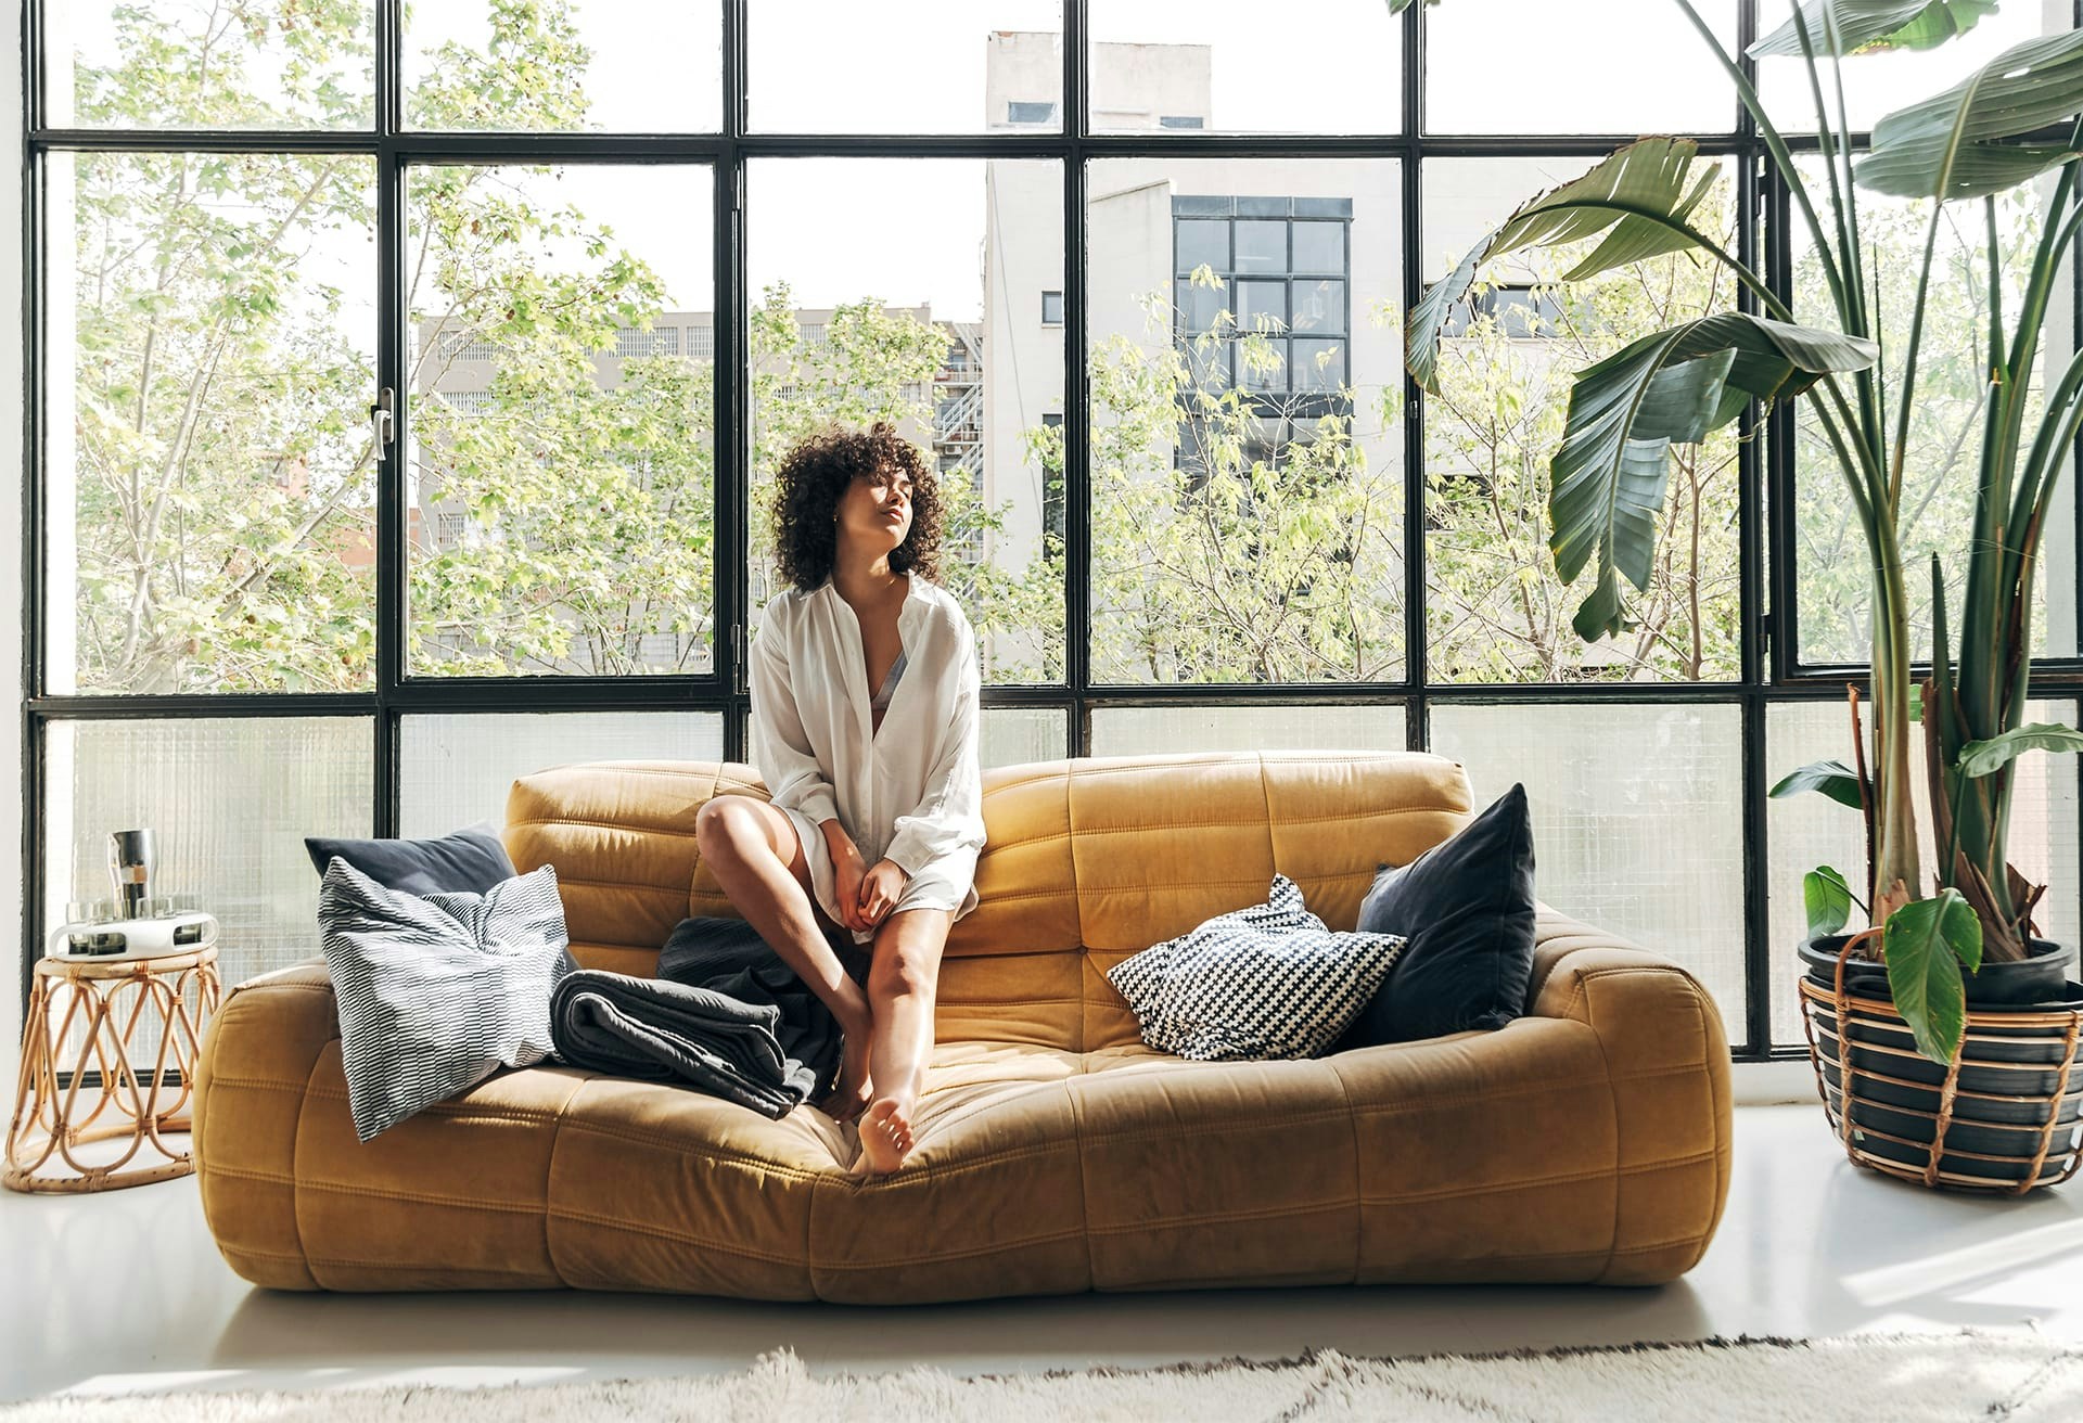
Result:
{"type": "MultiPolygon", "coordinates": [[[[648,975],[687,915],[735,915],[702,865],[710,796],[767,798],[750,765],[602,760],[537,771],[506,802],[506,850],[556,865],[573,954],[648,975]]],[[[942,958],[935,1038],[1071,1052],[1135,1042],[1106,969],[1266,898],[1283,873],[1350,929],[1381,863],[1471,813],[1460,765],[1421,752],[1077,756],[983,773],[977,908],[942,958]]]]}

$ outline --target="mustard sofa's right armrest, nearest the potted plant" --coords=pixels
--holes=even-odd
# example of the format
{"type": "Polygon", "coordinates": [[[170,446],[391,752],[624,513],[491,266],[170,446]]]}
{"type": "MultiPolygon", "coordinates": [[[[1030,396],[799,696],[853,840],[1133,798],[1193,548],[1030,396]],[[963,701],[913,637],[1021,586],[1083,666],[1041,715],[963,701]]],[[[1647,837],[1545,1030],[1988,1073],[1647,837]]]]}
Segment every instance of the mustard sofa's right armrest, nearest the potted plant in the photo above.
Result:
{"type": "Polygon", "coordinates": [[[1735,1131],[1714,998],[1662,954],[1541,904],[1527,1017],[1587,1025],[1612,1083],[1621,1240],[1604,1283],[1691,1269],[1729,1200],[1735,1131]]]}

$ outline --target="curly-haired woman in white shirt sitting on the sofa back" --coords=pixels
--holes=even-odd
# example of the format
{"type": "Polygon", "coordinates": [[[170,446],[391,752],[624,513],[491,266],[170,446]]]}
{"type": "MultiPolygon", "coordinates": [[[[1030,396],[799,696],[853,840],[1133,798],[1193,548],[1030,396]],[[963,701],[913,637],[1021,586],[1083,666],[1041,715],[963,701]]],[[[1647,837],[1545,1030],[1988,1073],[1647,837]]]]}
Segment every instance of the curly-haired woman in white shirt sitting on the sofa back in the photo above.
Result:
{"type": "Polygon", "coordinates": [[[887,423],[812,435],[775,483],[789,588],[750,658],[771,800],[714,796],[696,835],[731,904],[837,1017],[839,1079],[819,1106],[858,1117],[854,1173],[885,1173],[914,1146],[948,929],[977,906],[977,638],[933,581],[939,490],[887,423]]]}

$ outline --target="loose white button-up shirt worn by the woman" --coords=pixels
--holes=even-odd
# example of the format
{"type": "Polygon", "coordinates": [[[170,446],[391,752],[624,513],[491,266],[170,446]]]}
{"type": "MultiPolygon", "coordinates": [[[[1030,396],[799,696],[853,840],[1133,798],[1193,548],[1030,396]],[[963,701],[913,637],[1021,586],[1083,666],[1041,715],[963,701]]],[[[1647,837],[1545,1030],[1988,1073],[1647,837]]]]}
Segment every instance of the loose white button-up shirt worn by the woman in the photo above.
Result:
{"type": "MultiPolygon", "coordinates": [[[[917,571],[898,610],[904,675],[877,729],[860,619],[827,577],[783,590],[752,640],[752,765],[796,825],[819,904],[839,913],[823,821],[837,817],[867,865],[910,879],[889,913],[977,906],[983,771],[977,758],[977,633],[954,596],[917,571]]],[[[887,923],[887,919],[885,919],[887,923]]],[[[873,929],[852,929],[856,944],[873,929]]]]}

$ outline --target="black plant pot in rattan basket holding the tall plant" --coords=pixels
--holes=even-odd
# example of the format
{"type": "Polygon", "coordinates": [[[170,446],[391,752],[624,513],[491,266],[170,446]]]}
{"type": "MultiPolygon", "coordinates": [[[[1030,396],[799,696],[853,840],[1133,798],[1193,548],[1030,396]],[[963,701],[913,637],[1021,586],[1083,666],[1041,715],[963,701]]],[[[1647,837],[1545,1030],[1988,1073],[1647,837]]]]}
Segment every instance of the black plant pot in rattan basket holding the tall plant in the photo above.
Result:
{"type": "MultiPolygon", "coordinates": [[[[1846,1110],[1835,996],[1841,935],[1802,944],[1814,1065],[1833,1115],[1846,1110]]],[[[2083,983],[2066,981],[2073,946],[2033,940],[2023,963],[1983,965],[1962,975],[1968,990],[1968,1042],[1941,1146],[1939,1171],[1952,1185],[2031,1190],[2068,1173],[2083,1123],[2083,1073],[2062,1015],[2083,1010],[2083,983]],[[1993,971],[1993,973],[1991,973],[1993,971]],[[2048,1123],[2052,1117],[2052,1133],[2048,1123]],[[2046,1156],[2033,1167],[2035,1156],[2046,1156]]],[[[1887,971],[1877,963],[1846,963],[1846,994],[1887,1004],[1885,1013],[1852,1010],[1852,1129],[1860,1152],[1921,1177],[1931,1160],[1948,1069],[1916,1050],[1916,1038],[1893,1013],[1887,971]]],[[[1885,1167],[1883,1167],[1885,1169],[1885,1167]]]]}

